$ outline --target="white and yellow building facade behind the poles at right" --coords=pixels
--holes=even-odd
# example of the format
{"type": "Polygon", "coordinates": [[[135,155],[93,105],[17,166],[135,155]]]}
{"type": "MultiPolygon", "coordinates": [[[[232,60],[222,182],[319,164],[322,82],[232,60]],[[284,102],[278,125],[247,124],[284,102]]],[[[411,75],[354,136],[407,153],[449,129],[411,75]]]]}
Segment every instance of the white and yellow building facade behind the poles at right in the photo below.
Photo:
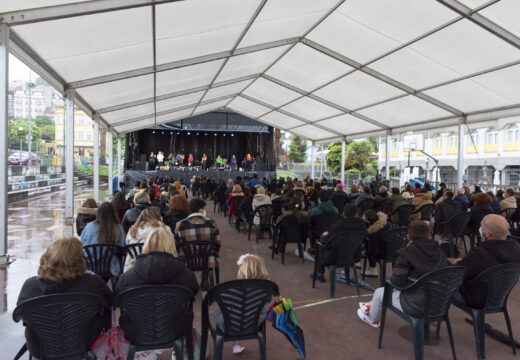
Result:
{"type": "MultiPolygon", "coordinates": [[[[457,182],[458,127],[421,131],[424,151],[439,161],[440,181],[457,182]]],[[[392,174],[408,165],[419,168],[419,175],[435,181],[435,163],[423,153],[405,152],[403,135],[390,137],[392,174]],[[395,169],[395,170],[393,170],[395,169]]],[[[467,184],[520,185],[520,117],[497,119],[465,126],[464,180],[467,184]]],[[[386,137],[379,138],[379,171],[385,172],[386,137]]]]}

